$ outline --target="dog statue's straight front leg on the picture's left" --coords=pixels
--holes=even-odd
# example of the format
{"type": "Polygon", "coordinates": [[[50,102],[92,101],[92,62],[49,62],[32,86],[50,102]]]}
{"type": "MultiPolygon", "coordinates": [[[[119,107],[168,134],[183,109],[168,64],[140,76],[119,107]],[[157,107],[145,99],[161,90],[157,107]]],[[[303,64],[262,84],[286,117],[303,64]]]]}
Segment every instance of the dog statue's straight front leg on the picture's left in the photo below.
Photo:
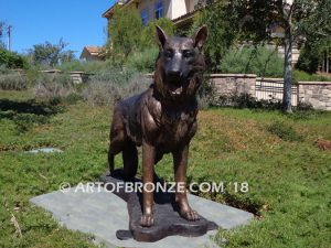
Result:
{"type": "Polygon", "coordinates": [[[156,159],[156,149],[147,142],[142,142],[142,216],[140,225],[150,227],[154,224],[152,206],[153,206],[153,192],[151,192],[153,183],[153,164],[156,159]],[[147,190],[147,191],[145,191],[147,190]]]}

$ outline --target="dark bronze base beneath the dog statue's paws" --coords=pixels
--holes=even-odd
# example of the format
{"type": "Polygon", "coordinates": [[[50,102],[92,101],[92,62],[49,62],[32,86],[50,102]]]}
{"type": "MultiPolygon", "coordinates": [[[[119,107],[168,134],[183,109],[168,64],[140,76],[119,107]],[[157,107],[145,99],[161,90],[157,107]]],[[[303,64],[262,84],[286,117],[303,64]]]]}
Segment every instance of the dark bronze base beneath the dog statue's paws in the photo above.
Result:
{"type": "MultiPolygon", "coordinates": [[[[113,185],[118,183],[125,185],[121,177],[121,171],[116,170],[114,173],[118,176],[100,176],[100,181],[109,187],[107,187],[109,191],[114,190],[113,185]]],[[[131,180],[131,182],[141,183],[140,180],[136,179],[131,180]]],[[[154,179],[154,182],[160,181],[154,179]]],[[[136,193],[126,191],[125,186],[122,186],[113,193],[127,202],[129,229],[119,229],[116,231],[116,237],[121,240],[134,238],[137,241],[152,242],[172,235],[197,237],[206,234],[209,230],[217,229],[218,227],[214,222],[210,222],[202,216],[195,222],[182,218],[179,215],[179,206],[175,203],[174,194],[163,192],[154,192],[153,194],[154,204],[152,209],[154,213],[154,225],[142,227],[140,225],[142,214],[140,204],[142,202],[141,192],[136,193]]]]}

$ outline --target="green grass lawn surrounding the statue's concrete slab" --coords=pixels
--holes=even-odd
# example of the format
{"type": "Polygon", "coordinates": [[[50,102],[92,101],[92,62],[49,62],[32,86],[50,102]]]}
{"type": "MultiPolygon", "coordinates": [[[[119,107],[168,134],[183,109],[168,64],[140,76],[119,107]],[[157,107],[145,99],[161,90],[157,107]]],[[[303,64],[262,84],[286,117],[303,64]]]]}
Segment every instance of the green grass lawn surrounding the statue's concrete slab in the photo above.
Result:
{"type": "MultiPolygon", "coordinates": [[[[58,226],[29,200],[62,182],[95,181],[106,171],[111,109],[52,106],[31,97],[0,91],[0,247],[94,247],[92,236],[58,226]],[[49,145],[64,152],[24,152],[49,145]]],[[[317,139],[331,140],[331,112],[218,108],[201,111],[199,123],[189,180],[225,182],[225,193],[201,195],[256,214],[247,226],[220,230],[221,245],[331,247],[331,153],[316,145],[317,139]],[[236,182],[247,182],[248,192],[236,192],[236,182]]],[[[173,180],[170,155],[157,172],[173,180]]]]}

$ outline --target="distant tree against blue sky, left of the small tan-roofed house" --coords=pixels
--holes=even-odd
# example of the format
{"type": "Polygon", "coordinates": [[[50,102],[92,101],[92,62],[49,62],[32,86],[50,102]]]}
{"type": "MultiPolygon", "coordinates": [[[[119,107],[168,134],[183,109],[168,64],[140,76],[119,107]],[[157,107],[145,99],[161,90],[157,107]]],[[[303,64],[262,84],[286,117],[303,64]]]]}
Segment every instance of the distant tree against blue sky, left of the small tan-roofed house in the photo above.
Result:
{"type": "Polygon", "coordinates": [[[58,44],[45,42],[33,45],[33,48],[29,50],[29,54],[35,64],[55,66],[74,60],[74,52],[71,50],[64,51],[65,46],[67,46],[67,43],[61,39],[58,44]]]}

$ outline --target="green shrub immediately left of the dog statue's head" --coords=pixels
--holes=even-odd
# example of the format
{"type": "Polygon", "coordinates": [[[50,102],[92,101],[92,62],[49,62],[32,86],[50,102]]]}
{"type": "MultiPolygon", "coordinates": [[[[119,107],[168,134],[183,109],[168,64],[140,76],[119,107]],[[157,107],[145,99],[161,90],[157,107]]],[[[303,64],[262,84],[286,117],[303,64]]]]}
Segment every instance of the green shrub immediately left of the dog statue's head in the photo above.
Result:
{"type": "Polygon", "coordinates": [[[151,73],[154,71],[158,54],[159,50],[157,47],[145,50],[142,53],[136,53],[129,56],[127,66],[138,72],[151,73]]]}

